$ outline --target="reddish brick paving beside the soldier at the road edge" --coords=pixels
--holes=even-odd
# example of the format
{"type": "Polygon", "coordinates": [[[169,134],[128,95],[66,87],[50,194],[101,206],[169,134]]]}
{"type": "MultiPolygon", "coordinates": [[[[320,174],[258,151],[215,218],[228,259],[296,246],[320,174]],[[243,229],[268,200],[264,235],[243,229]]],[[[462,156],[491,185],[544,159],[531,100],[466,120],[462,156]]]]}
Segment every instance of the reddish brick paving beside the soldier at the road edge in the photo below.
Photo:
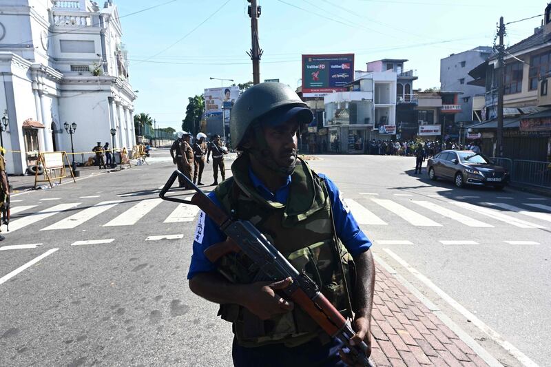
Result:
{"type": "Polygon", "coordinates": [[[372,352],[375,366],[488,366],[388,271],[377,266],[372,352]]]}

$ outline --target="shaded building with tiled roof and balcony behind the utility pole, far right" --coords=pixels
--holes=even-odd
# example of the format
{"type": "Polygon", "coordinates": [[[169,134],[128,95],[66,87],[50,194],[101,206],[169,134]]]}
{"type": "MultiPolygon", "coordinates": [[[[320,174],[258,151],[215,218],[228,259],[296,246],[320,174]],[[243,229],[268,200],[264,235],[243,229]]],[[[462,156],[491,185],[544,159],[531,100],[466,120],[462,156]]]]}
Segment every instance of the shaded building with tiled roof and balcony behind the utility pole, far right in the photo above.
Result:
{"type": "MultiPolygon", "coordinates": [[[[548,160],[551,151],[551,4],[545,8],[543,25],[534,34],[505,50],[503,76],[503,156],[512,159],[548,160]]],[[[482,151],[496,154],[497,57],[477,65],[468,73],[471,85],[485,87],[482,123],[472,125],[480,132],[482,151]]]]}

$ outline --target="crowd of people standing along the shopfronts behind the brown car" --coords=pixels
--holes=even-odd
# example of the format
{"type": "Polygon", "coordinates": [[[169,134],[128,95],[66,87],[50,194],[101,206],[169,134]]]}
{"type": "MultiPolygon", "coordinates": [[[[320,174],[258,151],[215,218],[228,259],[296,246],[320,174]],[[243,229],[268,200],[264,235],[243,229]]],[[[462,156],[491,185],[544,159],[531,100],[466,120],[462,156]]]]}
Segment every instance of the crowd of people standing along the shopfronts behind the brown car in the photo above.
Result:
{"type": "Polygon", "coordinates": [[[426,140],[424,142],[413,140],[371,140],[366,147],[366,153],[379,156],[414,156],[415,149],[421,144],[426,157],[435,156],[446,149],[472,150],[480,153],[479,142],[474,141],[463,145],[454,140],[426,140]]]}

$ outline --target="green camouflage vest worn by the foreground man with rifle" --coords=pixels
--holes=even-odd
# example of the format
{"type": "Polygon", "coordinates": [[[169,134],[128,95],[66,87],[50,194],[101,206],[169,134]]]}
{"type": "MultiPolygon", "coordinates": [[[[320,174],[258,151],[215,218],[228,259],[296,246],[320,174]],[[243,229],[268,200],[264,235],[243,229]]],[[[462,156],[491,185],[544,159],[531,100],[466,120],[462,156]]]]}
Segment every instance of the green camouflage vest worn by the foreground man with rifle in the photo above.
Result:
{"type": "MultiPolygon", "coordinates": [[[[233,177],[215,190],[222,207],[233,218],[252,222],[298,271],[305,271],[318,284],[344,317],[349,317],[350,275],[354,273],[349,267],[352,268],[353,262],[335,235],[331,202],[322,178],[299,160],[291,176],[287,203],[281,204],[260,196],[248,169],[247,155],[233,162],[233,177]]],[[[256,264],[241,254],[222,258],[218,270],[238,284],[264,280],[256,264]]],[[[297,346],[326,336],[298,306],[292,312],[265,321],[236,304],[220,305],[218,315],[233,323],[233,333],[242,346],[274,343],[297,346]]]]}

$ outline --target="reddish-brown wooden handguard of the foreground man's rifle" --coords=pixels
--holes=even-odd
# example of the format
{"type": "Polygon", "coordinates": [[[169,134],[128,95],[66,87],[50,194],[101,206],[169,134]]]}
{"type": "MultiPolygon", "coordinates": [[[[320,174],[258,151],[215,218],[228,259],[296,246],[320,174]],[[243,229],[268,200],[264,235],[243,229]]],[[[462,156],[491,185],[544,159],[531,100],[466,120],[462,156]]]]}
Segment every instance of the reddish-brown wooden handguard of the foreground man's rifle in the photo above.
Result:
{"type": "Polygon", "coordinates": [[[320,292],[314,300],[311,300],[302,289],[298,288],[289,294],[289,297],[331,337],[337,335],[346,325],[346,319],[320,292]]]}

